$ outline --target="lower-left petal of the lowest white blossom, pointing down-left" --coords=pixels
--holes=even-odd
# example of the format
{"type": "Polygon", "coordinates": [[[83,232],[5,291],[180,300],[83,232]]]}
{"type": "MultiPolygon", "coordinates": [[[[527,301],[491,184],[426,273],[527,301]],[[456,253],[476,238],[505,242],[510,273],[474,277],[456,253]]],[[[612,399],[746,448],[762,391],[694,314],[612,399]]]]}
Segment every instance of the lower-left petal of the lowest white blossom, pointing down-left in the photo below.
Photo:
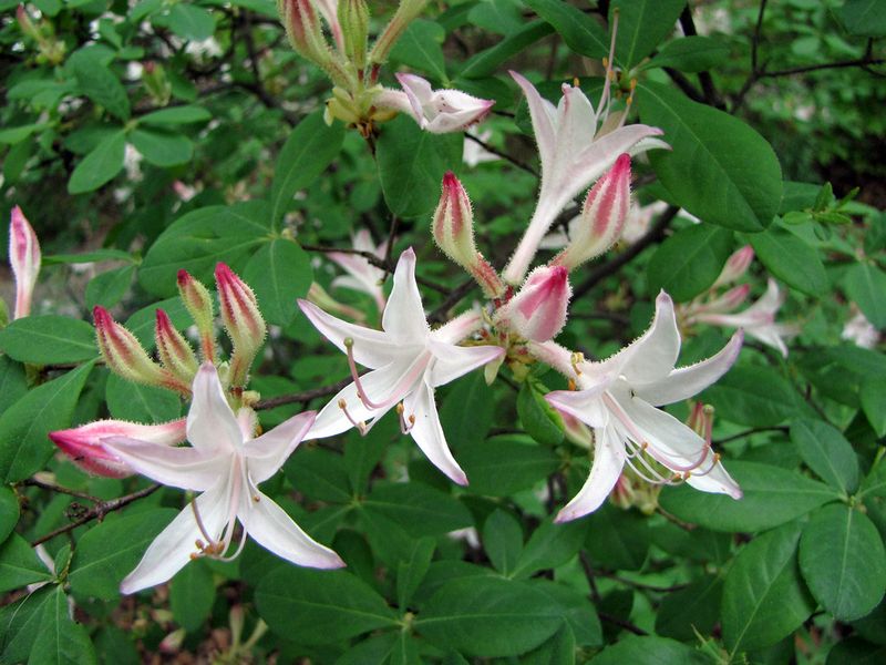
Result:
{"type": "MultiPolygon", "coordinates": [[[[197,497],[197,510],[209,535],[218,539],[227,519],[227,479],[197,497]]],[[[206,542],[188,505],[148,545],[142,561],[123,580],[121,593],[135,593],[172,579],[197,552],[196,541],[206,542]]],[[[119,543],[109,543],[110,548],[119,543]]]]}

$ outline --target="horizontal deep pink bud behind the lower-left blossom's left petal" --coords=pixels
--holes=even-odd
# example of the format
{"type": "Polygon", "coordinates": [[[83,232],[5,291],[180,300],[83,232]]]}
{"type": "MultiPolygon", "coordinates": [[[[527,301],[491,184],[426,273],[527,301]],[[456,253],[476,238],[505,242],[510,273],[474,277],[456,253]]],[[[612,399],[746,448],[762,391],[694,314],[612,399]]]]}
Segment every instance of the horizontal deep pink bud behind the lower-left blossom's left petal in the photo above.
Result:
{"type": "Polygon", "coordinates": [[[163,446],[182,443],[186,434],[185,419],[163,424],[138,424],[125,420],[96,420],[82,427],[50,432],[49,438],[59,449],[84,471],[107,478],[125,478],[135,471],[102,440],[109,437],[128,437],[163,446]]]}

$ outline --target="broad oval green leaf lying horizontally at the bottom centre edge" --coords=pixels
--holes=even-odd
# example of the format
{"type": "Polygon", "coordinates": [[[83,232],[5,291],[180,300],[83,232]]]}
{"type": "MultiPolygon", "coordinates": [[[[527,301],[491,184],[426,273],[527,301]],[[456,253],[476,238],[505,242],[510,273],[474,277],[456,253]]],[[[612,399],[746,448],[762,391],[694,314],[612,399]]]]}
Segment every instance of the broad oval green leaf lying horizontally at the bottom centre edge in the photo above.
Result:
{"type": "Polygon", "coordinates": [[[514,656],[563,625],[563,608],[530,586],[499,577],[452,580],[420,608],[415,628],[442,648],[470,656],[514,656]]]}

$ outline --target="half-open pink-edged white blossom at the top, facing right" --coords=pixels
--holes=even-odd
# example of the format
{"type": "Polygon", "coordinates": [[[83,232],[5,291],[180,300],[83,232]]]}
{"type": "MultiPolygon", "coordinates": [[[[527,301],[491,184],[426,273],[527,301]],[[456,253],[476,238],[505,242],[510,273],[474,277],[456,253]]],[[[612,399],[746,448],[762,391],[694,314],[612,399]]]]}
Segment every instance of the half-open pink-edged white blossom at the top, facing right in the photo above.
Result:
{"type": "Polygon", "coordinates": [[[403,91],[382,90],[375,95],[375,104],[411,115],[432,134],[464,131],[486,117],[495,104],[461,90],[433,90],[415,74],[396,74],[396,80],[403,91]]]}

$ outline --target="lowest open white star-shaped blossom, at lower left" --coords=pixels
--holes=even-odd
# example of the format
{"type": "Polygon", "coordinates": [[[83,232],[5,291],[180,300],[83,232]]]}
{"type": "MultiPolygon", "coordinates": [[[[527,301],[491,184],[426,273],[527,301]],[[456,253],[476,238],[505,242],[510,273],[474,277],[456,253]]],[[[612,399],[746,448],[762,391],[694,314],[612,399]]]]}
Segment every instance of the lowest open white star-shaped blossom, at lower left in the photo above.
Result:
{"type": "Polygon", "coordinates": [[[313,411],[299,413],[253,439],[255,413],[235,416],[215,367],[200,366],[187,415],[190,447],[169,448],[130,437],[109,437],[102,443],[123,462],[165,485],[200,494],[148,546],[142,561],[121,584],[134,593],[169,580],[198,556],[223,557],[234,540],[236,522],[246,534],[298,565],[334,569],[344,562],[313,541],[258,485],[274,475],[313,423],[313,411]]]}

